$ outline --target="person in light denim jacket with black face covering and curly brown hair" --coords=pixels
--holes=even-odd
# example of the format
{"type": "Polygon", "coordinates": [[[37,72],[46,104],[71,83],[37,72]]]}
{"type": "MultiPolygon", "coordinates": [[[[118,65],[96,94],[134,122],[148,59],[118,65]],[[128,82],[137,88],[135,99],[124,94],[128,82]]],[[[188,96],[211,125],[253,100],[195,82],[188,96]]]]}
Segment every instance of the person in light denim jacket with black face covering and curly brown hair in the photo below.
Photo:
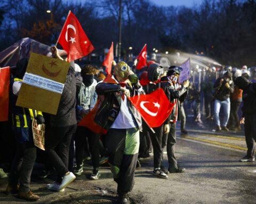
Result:
{"type": "MultiPolygon", "coordinates": [[[[85,65],[81,71],[83,78],[82,87],[78,93],[77,100],[77,117],[78,122],[88,114],[97,102],[98,95],[95,92],[97,81],[94,79],[94,67],[91,65],[85,65]]],[[[90,179],[99,179],[99,139],[100,134],[94,133],[90,129],[84,126],[78,126],[76,131],[75,143],[76,143],[76,169],[75,175],[81,175],[83,172],[83,152],[86,145],[86,138],[89,141],[89,148],[91,151],[93,171],[90,179]]]]}

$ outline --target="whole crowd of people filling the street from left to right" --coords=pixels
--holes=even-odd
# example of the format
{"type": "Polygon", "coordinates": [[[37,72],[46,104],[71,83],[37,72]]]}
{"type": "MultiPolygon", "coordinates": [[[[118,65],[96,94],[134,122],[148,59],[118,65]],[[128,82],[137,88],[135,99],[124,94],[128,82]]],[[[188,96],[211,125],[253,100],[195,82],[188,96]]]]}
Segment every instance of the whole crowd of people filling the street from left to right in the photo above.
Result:
{"type": "MultiPolygon", "coordinates": [[[[65,56],[60,56],[55,47],[52,47],[52,57],[65,60],[65,56]]],[[[140,166],[138,159],[150,157],[150,153],[153,153],[153,175],[161,179],[166,179],[170,173],[186,171],[178,165],[174,147],[178,120],[181,122],[181,134],[189,134],[185,129],[189,108],[196,122],[202,122],[202,118],[205,121],[214,120],[215,131],[240,131],[246,117],[248,151],[241,162],[254,161],[255,115],[251,113],[256,106],[251,101],[256,91],[254,83],[250,82],[252,74],[246,66],[242,69],[223,67],[218,72],[218,78],[215,67],[207,67],[201,84],[194,83],[192,78],[191,82],[186,80],[180,84],[181,67],[170,66],[166,70],[154,61],[150,61],[140,73],[137,73],[133,62],[113,63],[113,75],[108,76],[104,70],[92,65],[81,65],[81,69],[78,64],[70,63],[57,115],[50,115],[15,105],[27,65],[28,59],[20,60],[16,71],[12,73],[12,124],[1,123],[2,130],[8,129],[3,134],[3,141],[12,143],[11,146],[16,144],[16,148],[1,154],[12,162],[6,188],[8,194],[18,193],[20,198],[29,201],[39,199],[30,189],[30,177],[36,159],[44,166],[39,177],[45,178],[56,173],[55,181],[47,184],[46,188],[57,192],[65,191],[76,176],[83,173],[84,163],[91,160],[93,170],[90,179],[100,178],[99,165],[110,165],[120,202],[128,203],[127,193],[133,189],[135,168],[140,166]],[[127,98],[150,94],[158,88],[163,89],[169,101],[175,105],[166,121],[152,130],[127,98]],[[243,92],[247,95],[243,95],[243,92]],[[244,108],[240,122],[238,112],[242,98],[244,108]],[[77,126],[95,106],[99,107],[91,121],[104,129],[103,133],[77,126]],[[38,124],[46,125],[45,151],[34,145],[31,132],[33,118],[36,118],[38,124]],[[6,141],[5,138],[11,138],[10,135],[13,135],[13,140],[6,141]],[[167,168],[163,165],[164,148],[167,150],[167,168]]],[[[7,177],[3,169],[0,169],[0,177],[7,177]]]]}

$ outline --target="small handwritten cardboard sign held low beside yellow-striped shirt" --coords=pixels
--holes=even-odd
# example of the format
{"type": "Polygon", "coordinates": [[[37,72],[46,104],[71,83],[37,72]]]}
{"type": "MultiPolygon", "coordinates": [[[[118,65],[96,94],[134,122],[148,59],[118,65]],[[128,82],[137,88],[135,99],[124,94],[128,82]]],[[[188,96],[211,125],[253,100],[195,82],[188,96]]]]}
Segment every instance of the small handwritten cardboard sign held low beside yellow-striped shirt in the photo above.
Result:
{"type": "Polygon", "coordinates": [[[44,135],[45,135],[45,124],[38,125],[36,119],[32,121],[32,132],[35,146],[45,150],[44,148],[44,135]]]}

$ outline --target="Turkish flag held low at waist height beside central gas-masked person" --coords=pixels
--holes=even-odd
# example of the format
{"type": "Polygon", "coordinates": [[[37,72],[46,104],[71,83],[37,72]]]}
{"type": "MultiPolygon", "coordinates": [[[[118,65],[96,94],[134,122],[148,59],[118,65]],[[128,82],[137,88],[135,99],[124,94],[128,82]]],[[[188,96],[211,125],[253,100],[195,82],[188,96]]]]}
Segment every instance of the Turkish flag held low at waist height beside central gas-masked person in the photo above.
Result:
{"type": "Polygon", "coordinates": [[[174,106],[161,88],[151,92],[151,94],[134,96],[129,100],[150,128],[162,125],[171,114],[174,106]]]}

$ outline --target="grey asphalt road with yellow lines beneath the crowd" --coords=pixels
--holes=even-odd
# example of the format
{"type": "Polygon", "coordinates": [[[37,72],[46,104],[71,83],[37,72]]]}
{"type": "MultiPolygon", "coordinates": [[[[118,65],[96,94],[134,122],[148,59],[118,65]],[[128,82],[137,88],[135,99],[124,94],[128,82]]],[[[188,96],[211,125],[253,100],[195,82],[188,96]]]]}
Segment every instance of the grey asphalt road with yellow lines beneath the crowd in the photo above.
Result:
{"type": "MultiPolygon", "coordinates": [[[[188,131],[186,136],[178,131],[175,148],[178,163],[186,172],[159,179],[153,176],[153,155],[140,160],[131,203],[256,203],[255,163],[238,161],[246,152],[243,132],[212,132],[200,124],[191,124],[188,131]]],[[[164,165],[168,167],[166,154],[164,165]]],[[[108,166],[101,167],[97,181],[88,179],[90,165],[84,171],[64,193],[47,190],[46,183],[53,178],[39,180],[34,172],[31,189],[41,196],[35,203],[117,203],[116,184],[108,166]]],[[[17,195],[5,196],[6,185],[7,179],[0,180],[1,204],[26,203],[17,195]]]]}

